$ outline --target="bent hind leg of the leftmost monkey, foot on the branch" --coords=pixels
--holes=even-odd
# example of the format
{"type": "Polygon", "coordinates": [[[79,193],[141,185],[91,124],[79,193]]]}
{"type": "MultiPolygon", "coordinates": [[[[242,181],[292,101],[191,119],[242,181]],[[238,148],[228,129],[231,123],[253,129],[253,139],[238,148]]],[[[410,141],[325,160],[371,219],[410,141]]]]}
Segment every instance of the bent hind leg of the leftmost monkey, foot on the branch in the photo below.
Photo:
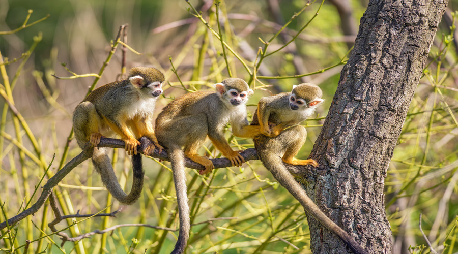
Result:
{"type": "Polygon", "coordinates": [[[82,102],[75,108],[73,129],[76,141],[81,148],[84,148],[88,141],[94,147],[100,143],[102,134],[99,133],[99,126],[101,122],[102,119],[91,102],[82,102]]]}

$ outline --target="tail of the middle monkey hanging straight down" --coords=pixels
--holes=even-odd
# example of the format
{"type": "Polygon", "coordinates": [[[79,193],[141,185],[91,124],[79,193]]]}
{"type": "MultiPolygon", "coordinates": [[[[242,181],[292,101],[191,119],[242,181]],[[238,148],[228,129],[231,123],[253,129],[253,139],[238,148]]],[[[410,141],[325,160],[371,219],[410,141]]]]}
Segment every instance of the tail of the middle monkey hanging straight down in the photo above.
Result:
{"type": "Polygon", "coordinates": [[[191,230],[191,221],[189,218],[188,195],[186,193],[186,170],[184,166],[184,152],[179,147],[169,148],[167,150],[168,158],[174,174],[175,191],[177,193],[178,216],[180,218],[180,231],[177,243],[171,254],[182,254],[185,251],[191,230]]]}

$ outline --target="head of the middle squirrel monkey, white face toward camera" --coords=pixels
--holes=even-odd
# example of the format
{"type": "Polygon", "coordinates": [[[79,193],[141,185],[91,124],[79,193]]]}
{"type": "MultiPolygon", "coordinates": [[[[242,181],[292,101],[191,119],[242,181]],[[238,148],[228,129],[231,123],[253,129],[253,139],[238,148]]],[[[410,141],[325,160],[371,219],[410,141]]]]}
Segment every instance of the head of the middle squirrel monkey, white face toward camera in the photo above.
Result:
{"type": "Polygon", "coordinates": [[[215,84],[215,88],[221,100],[232,106],[245,104],[248,97],[253,94],[248,84],[239,78],[226,78],[221,83],[215,84]]]}

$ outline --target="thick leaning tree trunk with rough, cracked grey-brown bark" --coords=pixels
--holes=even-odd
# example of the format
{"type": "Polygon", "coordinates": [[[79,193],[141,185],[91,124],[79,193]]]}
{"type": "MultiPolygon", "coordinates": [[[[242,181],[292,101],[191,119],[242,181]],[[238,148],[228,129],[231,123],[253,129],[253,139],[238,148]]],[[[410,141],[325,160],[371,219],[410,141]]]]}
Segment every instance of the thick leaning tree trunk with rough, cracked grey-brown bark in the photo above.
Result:
{"type": "MultiPolygon", "coordinates": [[[[308,195],[370,253],[391,252],[384,180],[447,0],[371,0],[310,158],[308,195]]],[[[314,253],[347,248],[308,216],[314,253]]],[[[350,250],[348,250],[350,251],[350,250]]]]}

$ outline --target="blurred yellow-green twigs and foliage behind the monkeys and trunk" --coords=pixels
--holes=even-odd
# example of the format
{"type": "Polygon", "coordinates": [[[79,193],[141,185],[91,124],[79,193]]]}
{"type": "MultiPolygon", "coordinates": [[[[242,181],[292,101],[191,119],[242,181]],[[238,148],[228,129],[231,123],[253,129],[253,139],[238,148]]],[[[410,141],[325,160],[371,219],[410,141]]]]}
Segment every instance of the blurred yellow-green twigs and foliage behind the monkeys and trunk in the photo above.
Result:
{"type": "MultiPolygon", "coordinates": [[[[40,186],[80,152],[76,142],[68,140],[71,114],[92,84],[96,82],[98,87],[123,77],[122,45],[109,58],[121,25],[128,24],[124,43],[141,53],[127,50],[127,70],[149,66],[165,74],[164,96],[156,104],[156,115],[173,98],[211,89],[211,84],[227,78],[227,64],[232,76],[251,81],[255,92],[248,103],[249,112],[254,112],[259,98],[290,91],[293,84],[319,85],[325,103],[313,119],[304,122],[308,138],[298,157],[306,158],[321,130],[367,4],[366,0],[221,1],[217,19],[213,1],[0,0],[0,52],[5,62],[0,67],[5,70],[0,83],[6,86],[5,80],[9,81],[15,106],[31,129],[31,133],[24,131],[4,104],[0,204],[5,205],[0,221],[17,214],[31,198],[33,204],[41,193],[40,186]],[[28,10],[33,13],[27,24],[49,17],[15,33],[2,34],[21,27],[28,10]],[[202,16],[196,17],[199,13],[202,16]],[[199,18],[222,35],[237,57],[228,49],[222,50],[221,41],[199,18]],[[259,48],[273,37],[267,50],[273,53],[262,58],[262,64],[256,67],[261,77],[254,79],[259,48]],[[102,74],[100,80],[94,74],[102,74]],[[265,78],[293,75],[301,77],[265,78]],[[43,176],[44,182],[40,183],[43,176]],[[32,197],[35,190],[37,194],[32,197]]],[[[388,170],[385,197],[393,253],[428,251],[418,227],[420,213],[422,229],[433,247],[447,253],[458,251],[455,10],[458,1],[450,0],[388,170]]],[[[234,149],[253,147],[251,140],[235,139],[230,132],[227,138],[234,149]]],[[[210,143],[202,153],[220,156],[210,143]]],[[[119,180],[128,190],[129,158],[124,151],[111,150],[110,154],[115,156],[119,180]]],[[[169,163],[144,158],[144,165],[144,195],[132,206],[111,200],[89,162],[75,168],[56,188],[63,214],[76,214],[78,210],[81,214],[110,212],[120,207],[122,211],[116,218],[72,218],[56,227],[63,229],[74,220],[83,220],[66,231],[73,236],[123,223],[177,228],[169,163]]],[[[207,176],[199,176],[195,170],[188,172],[191,221],[205,222],[192,228],[189,253],[310,252],[302,207],[260,162],[218,169],[207,176]],[[221,219],[209,221],[211,218],[221,219]]],[[[7,253],[22,253],[28,239],[33,243],[27,251],[36,253],[144,253],[145,249],[148,253],[169,253],[178,235],[146,227],[122,227],[60,246],[57,236],[43,237],[52,233],[46,224],[53,219],[46,204],[10,232],[1,231],[0,248],[7,253]]]]}

